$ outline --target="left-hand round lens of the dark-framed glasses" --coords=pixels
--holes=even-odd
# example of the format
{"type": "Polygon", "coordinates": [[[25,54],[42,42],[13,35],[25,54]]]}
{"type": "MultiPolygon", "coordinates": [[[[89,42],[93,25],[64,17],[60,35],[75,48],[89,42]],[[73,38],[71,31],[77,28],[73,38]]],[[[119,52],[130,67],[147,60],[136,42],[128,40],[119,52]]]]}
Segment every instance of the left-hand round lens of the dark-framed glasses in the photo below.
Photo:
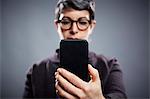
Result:
{"type": "Polygon", "coordinates": [[[60,25],[63,29],[69,29],[71,27],[71,20],[69,18],[63,18],[60,25]]]}

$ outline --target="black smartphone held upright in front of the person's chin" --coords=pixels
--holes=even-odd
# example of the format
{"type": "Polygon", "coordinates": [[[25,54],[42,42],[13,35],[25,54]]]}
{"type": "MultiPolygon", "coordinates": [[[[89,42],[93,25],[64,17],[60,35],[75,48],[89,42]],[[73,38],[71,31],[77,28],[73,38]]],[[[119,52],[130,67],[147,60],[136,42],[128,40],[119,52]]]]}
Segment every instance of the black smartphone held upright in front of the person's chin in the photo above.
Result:
{"type": "Polygon", "coordinates": [[[84,81],[89,81],[88,42],[86,40],[61,40],[60,67],[74,73],[84,81]]]}

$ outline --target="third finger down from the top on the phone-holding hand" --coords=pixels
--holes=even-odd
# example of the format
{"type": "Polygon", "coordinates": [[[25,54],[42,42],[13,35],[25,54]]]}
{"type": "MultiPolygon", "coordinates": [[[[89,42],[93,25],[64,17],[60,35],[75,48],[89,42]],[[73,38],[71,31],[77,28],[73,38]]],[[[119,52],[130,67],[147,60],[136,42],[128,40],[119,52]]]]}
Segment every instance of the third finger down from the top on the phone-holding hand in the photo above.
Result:
{"type": "Polygon", "coordinates": [[[63,90],[63,88],[61,88],[59,86],[59,84],[56,84],[55,88],[56,88],[56,92],[59,96],[61,96],[63,98],[67,98],[67,99],[76,99],[75,96],[73,96],[73,95],[69,94],[68,92],[66,92],[65,90],[63,90]]]}

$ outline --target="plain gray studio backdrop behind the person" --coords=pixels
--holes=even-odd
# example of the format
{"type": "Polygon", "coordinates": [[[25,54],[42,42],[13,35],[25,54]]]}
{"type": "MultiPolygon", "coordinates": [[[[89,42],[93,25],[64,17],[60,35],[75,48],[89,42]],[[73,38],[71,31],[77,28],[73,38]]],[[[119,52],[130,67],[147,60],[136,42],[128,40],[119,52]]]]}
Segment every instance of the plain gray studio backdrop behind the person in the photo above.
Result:
{"type": "MultiPolygon", "coordinates": [[[[2,98],[21,97],[28,68],[58,48],[56,1],[2,0],[2,98]]],[[[148,0],[96,0],[96,20],[90,49],[118,59],[129,98],[148,98],[148,0]]]]}

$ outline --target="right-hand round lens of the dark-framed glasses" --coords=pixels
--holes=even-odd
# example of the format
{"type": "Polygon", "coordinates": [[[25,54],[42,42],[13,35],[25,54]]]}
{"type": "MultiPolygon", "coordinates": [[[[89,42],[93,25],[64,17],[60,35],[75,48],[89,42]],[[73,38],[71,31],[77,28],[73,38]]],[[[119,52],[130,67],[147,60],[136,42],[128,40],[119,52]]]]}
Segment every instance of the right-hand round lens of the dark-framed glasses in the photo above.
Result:
{"type": "Polygon", "coordinates": [[[77,22],[78,28],[80,30],[85,30],[89,27],[89,21],[86,18],[80,18],[77,22]]]}

